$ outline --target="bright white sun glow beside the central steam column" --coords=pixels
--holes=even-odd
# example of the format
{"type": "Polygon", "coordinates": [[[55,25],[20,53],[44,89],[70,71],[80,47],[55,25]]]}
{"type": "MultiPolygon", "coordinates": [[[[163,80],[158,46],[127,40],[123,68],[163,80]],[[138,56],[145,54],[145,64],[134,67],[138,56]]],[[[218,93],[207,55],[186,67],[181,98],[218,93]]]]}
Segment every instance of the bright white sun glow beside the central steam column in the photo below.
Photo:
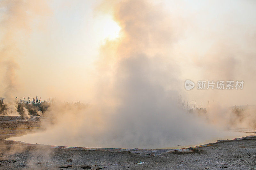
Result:
{"type": "Polygon", "coordinates": [[[118,38],[121,30],[121,27],[108,15],[97,18],[94,28],[98,37],[103,41],[118,38]]]}

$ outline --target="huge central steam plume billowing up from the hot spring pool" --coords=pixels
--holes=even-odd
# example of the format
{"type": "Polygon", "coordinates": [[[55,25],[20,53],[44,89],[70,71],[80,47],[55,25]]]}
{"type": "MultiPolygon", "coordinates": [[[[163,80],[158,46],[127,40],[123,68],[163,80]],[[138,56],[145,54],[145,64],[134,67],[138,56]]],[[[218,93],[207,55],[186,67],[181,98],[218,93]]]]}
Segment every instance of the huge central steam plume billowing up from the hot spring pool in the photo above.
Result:
{"type": "Polygon", "coordinates": [[[172,19],[148,1],[113,5],[121,38],[101,48],[92,106],[55,103],[46,113],[55,125],[19,140],[80,147],[164,148],[224,136],[176,105],[180,80],[169,53],[177,36],[172,19]]]}

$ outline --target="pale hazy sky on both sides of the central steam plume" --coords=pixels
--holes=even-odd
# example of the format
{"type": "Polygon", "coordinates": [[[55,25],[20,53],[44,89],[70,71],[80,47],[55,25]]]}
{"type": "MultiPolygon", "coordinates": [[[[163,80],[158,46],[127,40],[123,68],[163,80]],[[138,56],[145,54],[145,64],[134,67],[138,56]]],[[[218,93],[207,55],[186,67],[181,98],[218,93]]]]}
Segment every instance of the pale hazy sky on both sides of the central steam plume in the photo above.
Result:
{"type": "MultiPolygon", "coordinates": [[[[19,88],[15,96],[90,102],[100,48],[107,39],[118,39],[119,31],[124,29],[118,26],[122,22],[113,18],[111,4],[117,1],[99,7],[100,3],[89,0],[48,1],[47,9],[41,9],[43,15],[29,20],[29,33],[15,37],[20,51],[15,57],[19,65],[19,88]]],[[[172,58],[179,67],[180,92],[184,99],[204,101],[204,106],[209,100],[228,101],[228,105],[254,104],[256,100],[251,94],[255,93],[256,2],[154,3],[170,18],[173,42],[166,45],[165,51],[158,50],[172,58]],[[235,92],[187,92],[183,88],[186,79],[195,82],[244,80],[247,86],[235,92]]],[[[4,8],[0,10],[5,12],[4,8]]],[[[157,18],[153,16],[152,19],[157,18]]],[[[156,27],[161,27],[161,24],[156,27]]],[[[1,96],[4,95],[3,89],[4,84],[1,96]]]]}

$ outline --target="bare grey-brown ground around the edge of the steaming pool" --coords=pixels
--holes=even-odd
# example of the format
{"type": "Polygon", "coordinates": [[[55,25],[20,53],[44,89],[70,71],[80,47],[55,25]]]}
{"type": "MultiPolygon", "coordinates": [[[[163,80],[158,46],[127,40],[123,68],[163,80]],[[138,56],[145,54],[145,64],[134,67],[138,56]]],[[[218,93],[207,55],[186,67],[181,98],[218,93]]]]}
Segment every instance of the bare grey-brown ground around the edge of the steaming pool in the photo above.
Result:
{"type": "Polygon", "coordinates": [[[12,124],[12,129],[1,124],[0,169],[256,169],[256,136],[185,149],[67,148],[2,140],[29,133],[38,124],[12,124]]]}

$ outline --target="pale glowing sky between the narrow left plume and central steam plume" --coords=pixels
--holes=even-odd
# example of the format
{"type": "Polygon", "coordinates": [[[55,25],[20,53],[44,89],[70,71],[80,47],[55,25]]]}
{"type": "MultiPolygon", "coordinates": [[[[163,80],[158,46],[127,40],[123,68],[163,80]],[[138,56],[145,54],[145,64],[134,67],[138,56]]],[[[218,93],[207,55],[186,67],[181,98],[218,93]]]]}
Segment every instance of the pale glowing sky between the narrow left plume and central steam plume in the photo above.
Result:
{"type": "Polygon", "coordinates": [[[100,45],[109,36],[115,38],[120,28],[110,15],[94,12],[95,1],[50,1],[48,5],[43,27],[32,26],[29,37],[24,37],[28,42],[22,47],[24,55],[17,58],[22,87],[17,96],[48,99],[61,93],[64,100],[83,100],[76,89],[90,82],[88,69],[97,60],[100,45]]]}

